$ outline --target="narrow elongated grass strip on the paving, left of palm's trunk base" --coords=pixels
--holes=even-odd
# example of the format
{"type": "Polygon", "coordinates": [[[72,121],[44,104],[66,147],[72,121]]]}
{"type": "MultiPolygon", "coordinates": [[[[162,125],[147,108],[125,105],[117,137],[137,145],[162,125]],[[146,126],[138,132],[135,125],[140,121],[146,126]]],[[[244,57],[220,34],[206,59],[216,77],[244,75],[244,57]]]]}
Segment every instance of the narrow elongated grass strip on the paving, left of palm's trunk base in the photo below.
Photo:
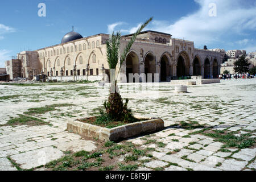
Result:
{"type": "Polygon", "coordinates": [[[28,109],[28,111],[24,112],[24,114],[27,114],[27,115],[44,114],[49,111],[55,110],[55,107],[68,107],[68,106],[74,106],[74,105],[73,104],[53,104],[53,105],[47,105],[43,107],[35,107],[35,108],[28,109]]]}

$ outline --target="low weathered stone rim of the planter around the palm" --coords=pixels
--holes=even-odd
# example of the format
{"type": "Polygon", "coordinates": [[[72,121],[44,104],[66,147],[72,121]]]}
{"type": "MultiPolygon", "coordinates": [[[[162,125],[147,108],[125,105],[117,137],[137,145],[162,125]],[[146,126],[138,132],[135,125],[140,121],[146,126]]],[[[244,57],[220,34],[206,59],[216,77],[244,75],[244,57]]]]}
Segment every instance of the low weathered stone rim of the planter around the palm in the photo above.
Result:
{"type": "MultiPolygon", "coordinates": [[[[144,119],[139,118],[138,119],[144,119]]],[[[107,129],[105,127],[91,125],[81,121],[69,121],[67,130],[72,133],[81,135],[82,137],[97,137],[105,141],[118,141],[130,137],[135,137],[141,134],[152,133],[164,128],[164,122],[160,118],[151,118],[147,121],[131,123],[128,125],[107,129]]]]}

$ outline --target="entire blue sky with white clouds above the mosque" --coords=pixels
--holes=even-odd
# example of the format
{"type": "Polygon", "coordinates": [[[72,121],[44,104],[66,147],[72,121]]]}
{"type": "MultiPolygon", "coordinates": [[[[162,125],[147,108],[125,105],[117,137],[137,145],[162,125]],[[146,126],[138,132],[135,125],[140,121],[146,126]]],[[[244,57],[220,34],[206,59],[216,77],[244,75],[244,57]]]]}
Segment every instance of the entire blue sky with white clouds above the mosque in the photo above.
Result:
{"type": "Polygon", "coordinates": [[[256,51],[255,0],[9,0],[0,6],[0,67],[16,53],[59,44],[72,30],[82,36],[121,30],[132,33],[154,16],[146,30],[192,40],[197,48],[256,51]],[[46,4],[46,17],[38,4],[46,4]],[[210,3],[216,16],[209,16],[210,3]]]}

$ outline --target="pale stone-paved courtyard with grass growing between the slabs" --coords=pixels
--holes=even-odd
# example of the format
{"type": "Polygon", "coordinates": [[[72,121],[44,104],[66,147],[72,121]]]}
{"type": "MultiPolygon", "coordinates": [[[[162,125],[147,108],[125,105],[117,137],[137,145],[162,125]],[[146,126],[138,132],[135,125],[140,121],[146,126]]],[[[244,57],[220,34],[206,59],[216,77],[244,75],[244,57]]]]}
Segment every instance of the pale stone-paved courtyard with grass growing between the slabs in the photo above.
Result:
{"type": "MultiPolygon", "coordinates": [[[[149,86],[144,93],[138,84],[119,87],[135,114],[160,117],[165,123],[163,131],[123,141],[142,149],[154,148],[151,158],[143,156],[135,162],[137,170],[255,170],[256,79],[188,86],[188,93],[179,94],[167,82],[159,83],[159,88],[149,86]],[[212,133],[200,133],[207,127],[212,133]],[[239,137],[246,140],[227,145],[217,135],[223,133],[238,137],[236,141],[239,137]],[[248,144],[251,140],[254,142],[248,144]]],[[[67,122],[97,114],[108,88],[98,84],[0,85],[0,170],[44,170],[46,163],[67,151],[95,151],[97,140],[69,133],[67,122]],[[33,115],[48,125],[6,125],[28,109],[53,104],[59,106],[33,115]]]]}

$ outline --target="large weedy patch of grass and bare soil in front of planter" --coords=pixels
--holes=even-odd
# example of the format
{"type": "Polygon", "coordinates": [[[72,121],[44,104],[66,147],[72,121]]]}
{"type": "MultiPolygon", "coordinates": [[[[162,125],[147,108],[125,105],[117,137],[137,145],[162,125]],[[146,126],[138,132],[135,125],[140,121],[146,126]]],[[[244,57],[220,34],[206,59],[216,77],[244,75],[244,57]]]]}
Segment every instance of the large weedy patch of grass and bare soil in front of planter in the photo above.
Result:
{"type": "Polygon", "coordinates": [[[144,162],[150,162],[150,159],[139,161],[140,156],[153,158],[148,154],[149,150],[142,150],[130,142],[96,142],[96,151],[65,152],[65,156],[47,163],[45,167],[52,171],[131,171],[143,166],[144,162]],[[119,161],[120,158],[123,158],[123,162],[119,161]]]}

